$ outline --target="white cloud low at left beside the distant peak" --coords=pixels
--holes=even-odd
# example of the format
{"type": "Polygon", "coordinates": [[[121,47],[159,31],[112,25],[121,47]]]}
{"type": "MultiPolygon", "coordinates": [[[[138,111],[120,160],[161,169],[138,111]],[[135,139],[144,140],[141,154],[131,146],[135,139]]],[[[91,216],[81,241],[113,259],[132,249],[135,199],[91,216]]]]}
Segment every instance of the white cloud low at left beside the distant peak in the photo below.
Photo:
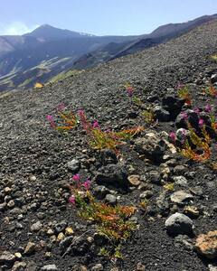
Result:
{"type": "Polygon", "coordinates": [[[39,25],[27,25],[22,22],[12,23],[0,23],[1,35],[22,35],[24,33],[30,33],[39,25]]]}

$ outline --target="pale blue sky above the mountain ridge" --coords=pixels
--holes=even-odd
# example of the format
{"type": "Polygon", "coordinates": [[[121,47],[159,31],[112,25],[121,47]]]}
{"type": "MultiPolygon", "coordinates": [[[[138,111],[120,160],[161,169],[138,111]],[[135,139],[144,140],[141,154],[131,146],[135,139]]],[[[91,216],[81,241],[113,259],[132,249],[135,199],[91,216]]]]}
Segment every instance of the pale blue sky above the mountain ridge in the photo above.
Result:
{"type": "Polygon", "coordinates": [[[0,0],[0,34],[43,23],[97,35],[142,34],[215,13],[217,0],[0,0]]]}

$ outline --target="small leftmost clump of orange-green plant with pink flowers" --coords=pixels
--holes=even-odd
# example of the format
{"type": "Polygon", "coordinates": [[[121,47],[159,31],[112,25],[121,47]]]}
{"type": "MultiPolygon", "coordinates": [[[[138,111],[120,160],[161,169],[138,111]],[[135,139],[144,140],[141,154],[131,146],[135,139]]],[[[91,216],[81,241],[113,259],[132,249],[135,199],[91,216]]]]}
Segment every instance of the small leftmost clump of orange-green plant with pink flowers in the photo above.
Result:
{"type": "Polygon", "coordinates": [[[67,132],[77,126],[77,117],[71,110],[67,109],[64,104],[60,104],[56,107],[56,111],[57,117],[55,120],[52,115],[46,117],[52,128],[58,131],[67,132]]]}

